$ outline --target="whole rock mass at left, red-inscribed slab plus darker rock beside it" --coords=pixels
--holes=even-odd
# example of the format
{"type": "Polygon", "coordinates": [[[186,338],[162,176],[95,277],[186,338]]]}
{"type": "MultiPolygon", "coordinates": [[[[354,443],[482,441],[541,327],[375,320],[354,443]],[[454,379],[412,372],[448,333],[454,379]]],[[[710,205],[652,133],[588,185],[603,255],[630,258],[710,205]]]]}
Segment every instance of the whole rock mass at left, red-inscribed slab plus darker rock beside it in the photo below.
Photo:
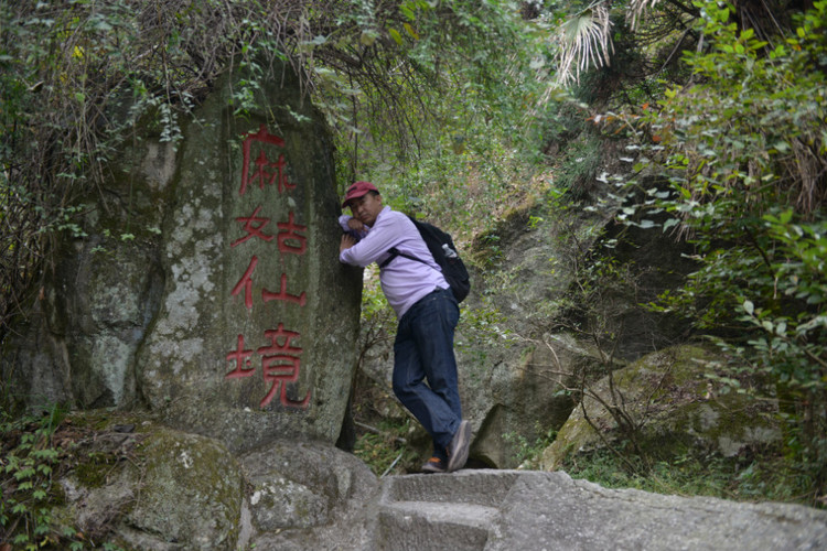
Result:
{"type": "Polygon", "coordinates": [[[355,366],[361,272],[337,261],[321,116],[272,66],[235,116],[228,74],[182,123],[149,128],[63,247],[2,371],[30,408],[148,407],[233,452],[334,442],[355,366]]]}

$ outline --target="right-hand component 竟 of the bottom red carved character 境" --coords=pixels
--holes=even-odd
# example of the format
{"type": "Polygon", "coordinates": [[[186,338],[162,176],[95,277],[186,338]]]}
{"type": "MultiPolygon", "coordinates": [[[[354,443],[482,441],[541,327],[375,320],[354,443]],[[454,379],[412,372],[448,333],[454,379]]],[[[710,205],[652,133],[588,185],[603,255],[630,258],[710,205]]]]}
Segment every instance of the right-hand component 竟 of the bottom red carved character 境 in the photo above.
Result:
{"type": "Polygon", "coordinates": [[[310,403],[310,391],[303,400],[291,400],[287,396],[288,382],[296,382],[299,379],[299,368],[301,367],[302,349],[292,344],[293,338],[301,335],[294,331],[284,329],[284,324],[280,323],[278,329],[265,332],[265,336],[270,341],[269,346],[262,346],[258,349],[261,355],[261,366],[264,368],[265,381],[270,382],[270,390],[261,400],[260,407],[264,408],[279,393],[279,401],[287,408],[307,408],[310,403]],[[279,342],[282,339],[282,342],[279,342]]]}

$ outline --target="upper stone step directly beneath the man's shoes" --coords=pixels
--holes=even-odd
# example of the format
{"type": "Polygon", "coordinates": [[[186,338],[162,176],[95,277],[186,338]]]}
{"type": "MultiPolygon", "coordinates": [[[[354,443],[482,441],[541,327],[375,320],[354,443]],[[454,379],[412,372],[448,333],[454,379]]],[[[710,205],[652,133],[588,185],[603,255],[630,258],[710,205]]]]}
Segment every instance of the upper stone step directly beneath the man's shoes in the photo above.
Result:
{"type": "Polygon", "coordinates": [[[394,476],[385,482],[383,501],[430,501],[498,507],[518,477],[518,471],[493,469],[394,476]]]}

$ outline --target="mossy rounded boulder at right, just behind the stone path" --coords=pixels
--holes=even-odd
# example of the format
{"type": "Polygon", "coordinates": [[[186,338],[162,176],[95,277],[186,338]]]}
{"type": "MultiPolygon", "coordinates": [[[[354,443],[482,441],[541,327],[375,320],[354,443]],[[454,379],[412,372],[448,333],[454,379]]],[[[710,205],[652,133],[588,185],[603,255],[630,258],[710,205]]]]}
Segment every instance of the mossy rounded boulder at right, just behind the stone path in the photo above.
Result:
{"type": "Polygon", "coordinates": [[[629,430],[642,451],[664,458],[687,450],[728,457],[748,446],[778,442],[776,404],[737,392],[718,393],[704,377],[704,361],[715,354],[701,346],[675,346],[597,381],[543,452],[538,466],[560,468],[567,457],[602,446],[603,439],[627,437],[629,430]],[[627,419],[624,426],[611,410],[627,419]]]}

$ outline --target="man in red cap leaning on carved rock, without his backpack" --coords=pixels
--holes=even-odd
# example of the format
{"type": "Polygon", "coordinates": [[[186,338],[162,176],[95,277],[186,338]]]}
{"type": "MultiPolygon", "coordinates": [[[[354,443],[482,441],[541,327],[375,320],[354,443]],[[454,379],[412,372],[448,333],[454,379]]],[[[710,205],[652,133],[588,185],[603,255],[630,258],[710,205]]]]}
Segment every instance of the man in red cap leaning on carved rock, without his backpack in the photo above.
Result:
{"type": "Polygon", "coordinates": [[[339,219],[345,231],[339,260],[363,268],[379,264],[382,290],[398,318],[394,393],[433,441],[433,457],[422,472],[452,473],[465,465],[471,440],[471,424],[462,420],[453,354],[457,300],[419,230],[406,215],[383,205],[376,186],[351,185],[345,207],[353,216],[339,219]],[[391,247],[419,261],[391,256],[391,247]]]}

